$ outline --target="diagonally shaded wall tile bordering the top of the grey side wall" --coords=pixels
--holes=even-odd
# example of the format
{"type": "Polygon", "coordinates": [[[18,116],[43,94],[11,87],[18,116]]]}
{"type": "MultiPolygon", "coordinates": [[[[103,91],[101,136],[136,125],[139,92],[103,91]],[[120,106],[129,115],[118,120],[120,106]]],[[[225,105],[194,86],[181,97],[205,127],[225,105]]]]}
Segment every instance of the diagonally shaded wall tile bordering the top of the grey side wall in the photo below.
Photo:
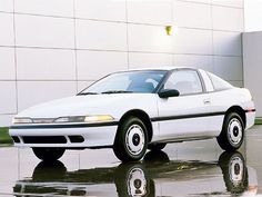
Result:
{"type": "Polygon", "coordinates": [[[240,32],[213,31],[213,51],[220,56],[242,56],[240,32]]]}

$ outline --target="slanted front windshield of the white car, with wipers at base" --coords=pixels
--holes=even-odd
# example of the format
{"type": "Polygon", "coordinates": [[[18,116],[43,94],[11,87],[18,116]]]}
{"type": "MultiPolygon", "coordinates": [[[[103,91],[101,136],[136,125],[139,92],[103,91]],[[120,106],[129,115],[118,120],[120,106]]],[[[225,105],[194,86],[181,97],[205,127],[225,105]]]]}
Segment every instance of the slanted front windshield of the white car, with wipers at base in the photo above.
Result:
{"type": "Polygon", "coordinates": [[[164,70],[117,72],[98,80],[78,95],[151,93],[165,73],[164,70]]]}

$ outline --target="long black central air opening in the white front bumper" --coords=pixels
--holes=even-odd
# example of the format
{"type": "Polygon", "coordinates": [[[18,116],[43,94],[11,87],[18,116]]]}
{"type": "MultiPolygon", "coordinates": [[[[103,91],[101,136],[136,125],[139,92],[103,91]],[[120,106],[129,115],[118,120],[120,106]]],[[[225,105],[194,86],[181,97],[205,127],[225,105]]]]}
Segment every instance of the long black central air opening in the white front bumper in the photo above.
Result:
{"type": "Polygon", "coordinates": [[[67,144],[67,138],[63,136],[24,136],[24,144],[67,144]]]}

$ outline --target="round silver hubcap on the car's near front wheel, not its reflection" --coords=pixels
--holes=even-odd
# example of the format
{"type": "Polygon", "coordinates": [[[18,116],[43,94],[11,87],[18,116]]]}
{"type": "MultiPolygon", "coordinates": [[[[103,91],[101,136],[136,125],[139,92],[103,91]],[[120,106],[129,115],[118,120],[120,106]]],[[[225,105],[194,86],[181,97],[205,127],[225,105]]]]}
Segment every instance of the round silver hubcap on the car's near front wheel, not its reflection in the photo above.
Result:
{"type": "Polygon", "coordinates": [[[144,131],[139,125],[132,125],[125,136],[129,152],[139,155],[144,148],[144,131]]]}

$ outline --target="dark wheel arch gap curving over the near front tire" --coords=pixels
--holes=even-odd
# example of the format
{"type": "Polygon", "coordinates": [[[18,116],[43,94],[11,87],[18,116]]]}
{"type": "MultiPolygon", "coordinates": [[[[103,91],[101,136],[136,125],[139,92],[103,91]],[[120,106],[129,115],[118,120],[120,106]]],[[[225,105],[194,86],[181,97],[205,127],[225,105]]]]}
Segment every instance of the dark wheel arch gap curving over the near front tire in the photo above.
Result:
{"type": "Polygon", "coordinates": [[[150,142],[153,137],[153,127],[152,127],[152,122],[150,120],[149,115],[141,109],[129,110],[120,118],[119,126],[130,116],[134,116],[143,121],[148,130],[148,137],[149,137],[149,142],[150,142]]]}

